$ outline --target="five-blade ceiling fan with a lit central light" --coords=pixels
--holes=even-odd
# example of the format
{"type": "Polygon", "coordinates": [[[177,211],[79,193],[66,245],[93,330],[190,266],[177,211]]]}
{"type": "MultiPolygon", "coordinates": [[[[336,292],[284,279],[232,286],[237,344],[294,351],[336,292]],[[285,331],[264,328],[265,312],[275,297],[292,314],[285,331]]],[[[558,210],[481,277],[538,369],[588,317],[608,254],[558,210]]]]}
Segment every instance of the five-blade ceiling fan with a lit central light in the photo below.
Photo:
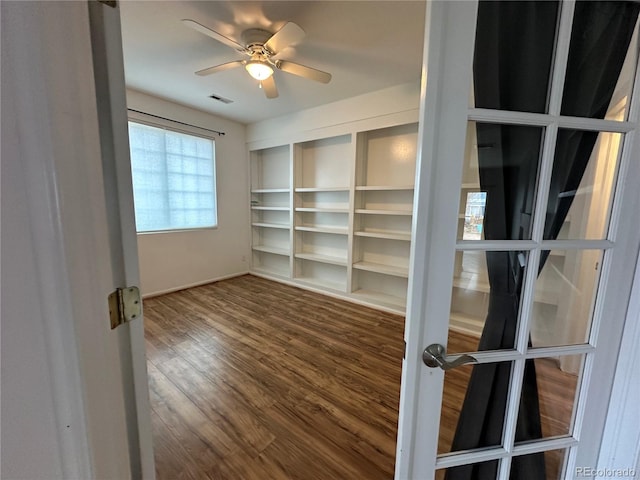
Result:
{"type": "Polygon", "coordinates": [[[212,73],[221,72],[230,68],[244,66],[247,72],[249,72],[249,75],[260,81],[260,87],[264,89],[267,98],[276,98],[278,96],[278,89],[276,88],[276,82],[273,78],[274,69],[292,73],[299,77],[308,78],[309,80],[315,80],[320,83],[329,83],[331,81],[331,74],[327,72],[276,58],[282,50],[298,43],[304,38],[304,30],[293,22],[287,22],[276,33],[271,33],[259,28],[245,30],[242,32],[242,42],[244,45],[194,20],[185,19],[182,20],[182,23],[249,57],[248,60],[235,60],[199,70],[196,72],[196,75],[211,75],[212,73]]]}

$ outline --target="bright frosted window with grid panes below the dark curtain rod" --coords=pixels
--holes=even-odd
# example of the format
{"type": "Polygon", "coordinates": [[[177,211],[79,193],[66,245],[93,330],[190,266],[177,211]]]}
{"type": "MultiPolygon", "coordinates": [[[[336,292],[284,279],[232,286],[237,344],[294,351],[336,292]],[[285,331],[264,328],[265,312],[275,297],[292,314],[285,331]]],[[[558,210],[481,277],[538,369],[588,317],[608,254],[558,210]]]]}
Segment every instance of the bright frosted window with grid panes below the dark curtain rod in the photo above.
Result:
{"type": "Polygon", "coordinates": [[[129,122],[129,142],[138,232],[217,225],[213,140],[129,122]]]}

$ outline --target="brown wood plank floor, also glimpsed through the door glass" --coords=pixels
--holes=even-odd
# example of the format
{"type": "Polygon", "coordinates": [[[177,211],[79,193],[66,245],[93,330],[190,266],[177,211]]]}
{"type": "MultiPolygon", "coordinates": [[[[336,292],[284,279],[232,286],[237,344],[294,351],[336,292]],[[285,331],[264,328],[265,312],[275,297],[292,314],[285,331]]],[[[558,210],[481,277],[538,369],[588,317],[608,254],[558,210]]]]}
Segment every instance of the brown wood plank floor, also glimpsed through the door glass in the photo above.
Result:
{"type": "MultiPolygon", "coordinates": [[[[144,308],[159,480],[393,478],[403,317],[249,275],[144,308]]],[[[468,371],[448,377],[441,448],[468,371]]]]}

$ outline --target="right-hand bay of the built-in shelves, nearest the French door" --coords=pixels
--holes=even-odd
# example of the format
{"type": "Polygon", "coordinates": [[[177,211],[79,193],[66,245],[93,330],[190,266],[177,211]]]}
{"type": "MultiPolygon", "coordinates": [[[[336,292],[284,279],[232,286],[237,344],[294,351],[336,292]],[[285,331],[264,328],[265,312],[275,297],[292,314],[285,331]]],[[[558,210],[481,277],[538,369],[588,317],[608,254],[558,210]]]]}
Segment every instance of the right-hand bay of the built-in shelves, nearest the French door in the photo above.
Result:
{"type": "Polygon", "coordinates": [[[352,291],[391,309],[407,302],[417,132],[410,124],[358,134],[352,291]]]}

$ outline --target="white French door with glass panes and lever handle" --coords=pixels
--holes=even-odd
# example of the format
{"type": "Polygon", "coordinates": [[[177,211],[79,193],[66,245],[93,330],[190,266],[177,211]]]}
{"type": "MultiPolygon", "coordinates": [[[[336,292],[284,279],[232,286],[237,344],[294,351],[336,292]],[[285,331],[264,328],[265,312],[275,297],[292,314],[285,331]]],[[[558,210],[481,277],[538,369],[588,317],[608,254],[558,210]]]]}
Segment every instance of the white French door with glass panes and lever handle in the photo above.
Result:
{"type": "Polygon", "coordinates": [[[428,3],[396,478],[595,466],[640,240],[639,11],[428,3]]]}

